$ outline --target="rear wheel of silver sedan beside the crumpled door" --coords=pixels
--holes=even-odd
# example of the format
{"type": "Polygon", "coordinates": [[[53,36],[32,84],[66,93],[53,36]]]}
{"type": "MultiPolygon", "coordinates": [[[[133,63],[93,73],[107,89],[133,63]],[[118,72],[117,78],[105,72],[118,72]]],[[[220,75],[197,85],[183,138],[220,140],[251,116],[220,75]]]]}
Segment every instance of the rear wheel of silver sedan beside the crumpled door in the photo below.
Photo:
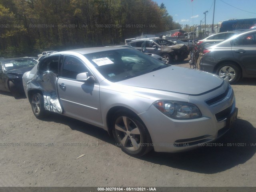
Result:
{"type": "Polygon", "coordinates": [[[44,109],[44,97],[42,94],[34,93],[30,104],[36,118],[43,119],[49,115],[49,112],[44,109]]]}

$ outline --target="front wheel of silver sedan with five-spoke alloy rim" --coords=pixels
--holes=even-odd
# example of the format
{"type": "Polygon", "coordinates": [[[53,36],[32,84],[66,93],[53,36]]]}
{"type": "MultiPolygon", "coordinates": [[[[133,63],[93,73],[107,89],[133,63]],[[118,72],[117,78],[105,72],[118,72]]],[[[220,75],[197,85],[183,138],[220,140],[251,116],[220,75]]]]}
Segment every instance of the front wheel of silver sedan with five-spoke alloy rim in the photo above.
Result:
{"type": "Polygon", "coordinates": [[[130,156],[140,157],[152,150],[146,126],[134,114],[117,111],[112,119],[112,133],[118,146],[130,156]]]}

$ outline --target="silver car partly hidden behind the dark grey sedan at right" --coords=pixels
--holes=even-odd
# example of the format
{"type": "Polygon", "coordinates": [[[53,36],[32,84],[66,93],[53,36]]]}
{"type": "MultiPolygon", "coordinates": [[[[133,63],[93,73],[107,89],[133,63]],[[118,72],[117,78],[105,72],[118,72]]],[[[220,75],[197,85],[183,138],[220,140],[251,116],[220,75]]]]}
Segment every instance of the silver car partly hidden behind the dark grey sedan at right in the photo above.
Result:
{"type": "Polygon", "coordinates": [[[222,42],[222,41],[234,36],[237,33],[238,32],[230,31],[230,32],[222,32],[222,33],[213,34],[213,35],[208,36],[202,40],[199,40],[196,43],[196,46],[198,47],[198,50],[201,50],[200,52],[202,52],[204,50],[204,46],[222,42]]]}

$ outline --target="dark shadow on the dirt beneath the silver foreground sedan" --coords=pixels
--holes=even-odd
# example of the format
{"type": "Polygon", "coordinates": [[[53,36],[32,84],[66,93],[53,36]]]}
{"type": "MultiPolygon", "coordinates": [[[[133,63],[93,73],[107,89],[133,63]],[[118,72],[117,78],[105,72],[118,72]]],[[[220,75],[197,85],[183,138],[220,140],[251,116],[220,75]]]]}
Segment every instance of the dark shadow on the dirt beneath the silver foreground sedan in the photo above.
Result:
{"type": "MultiPolygon", "coordinates": [[[[116,145],[108,132],[84,122],[53,114],[46,121],[69,126],[95,138],[116,145]]],[[[223,146],[204,146],[182,153],[150,152],[139,158],[154,164],[169,166],[204,174],[218,173],[248,161],[256,152],[256,128],[250,122],[238,119],[233,127],[215,143],[223,146]]]]}

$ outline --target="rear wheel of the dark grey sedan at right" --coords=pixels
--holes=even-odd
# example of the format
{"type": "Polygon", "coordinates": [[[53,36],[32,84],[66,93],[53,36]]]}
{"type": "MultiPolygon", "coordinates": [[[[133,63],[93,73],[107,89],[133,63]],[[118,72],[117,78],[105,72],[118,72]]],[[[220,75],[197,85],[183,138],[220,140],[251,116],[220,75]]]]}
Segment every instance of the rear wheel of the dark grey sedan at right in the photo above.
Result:
{"type": "Polygon", "coordinates": [[[231,62],[226,62],[218,67],[216,70],[216,75],[224,78],[230,84],[236,83],[241,77],[241,71],[231,62]]]}

